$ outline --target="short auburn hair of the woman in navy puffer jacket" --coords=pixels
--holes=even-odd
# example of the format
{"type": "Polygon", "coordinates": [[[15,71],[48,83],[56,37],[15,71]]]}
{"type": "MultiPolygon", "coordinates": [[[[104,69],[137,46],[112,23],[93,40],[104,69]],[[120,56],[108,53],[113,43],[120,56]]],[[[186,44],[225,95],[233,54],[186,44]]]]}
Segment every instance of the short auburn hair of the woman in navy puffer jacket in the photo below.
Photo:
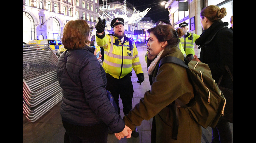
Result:
{"type": "Polygon", "coordinates": [[[82,49],[90,41],[90,27],[85,20],[77,19],[69,21],[63,29],[62,44],[67,50],[82,49]]]}

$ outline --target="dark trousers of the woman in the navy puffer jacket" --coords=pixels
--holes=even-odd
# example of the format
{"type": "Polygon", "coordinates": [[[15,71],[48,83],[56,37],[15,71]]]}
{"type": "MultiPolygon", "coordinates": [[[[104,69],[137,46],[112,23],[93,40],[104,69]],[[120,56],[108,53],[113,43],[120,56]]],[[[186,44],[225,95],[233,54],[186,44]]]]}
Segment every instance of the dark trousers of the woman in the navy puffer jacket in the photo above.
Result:
{"type": "Polygon", "coordinates": [[[107,143],[108,126],[103,122],[94,126],[76,126],[62,121],[66,130],[64,143],[107,143]]]}

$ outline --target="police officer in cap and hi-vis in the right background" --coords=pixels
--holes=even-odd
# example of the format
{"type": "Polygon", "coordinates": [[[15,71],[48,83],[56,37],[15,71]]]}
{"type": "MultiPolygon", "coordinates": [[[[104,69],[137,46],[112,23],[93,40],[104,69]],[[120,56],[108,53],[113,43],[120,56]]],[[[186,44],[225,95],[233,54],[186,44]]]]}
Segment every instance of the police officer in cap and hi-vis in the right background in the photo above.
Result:
{"type": "Polygon", "coordinates": [[[186,23],[186,22],[179,24],[179,27],[181,29],[183,29],[183,31],[185,32],[184,37],[181,37],[180,40],[181,40],[181,44],[184,48],[186,55],[188,55],[188,54],[195,55],[194,43],[195,43],[196,39],[199,38],[200,36],[195,33],[187,32],[188,31],[188,23],[186,23]]]}

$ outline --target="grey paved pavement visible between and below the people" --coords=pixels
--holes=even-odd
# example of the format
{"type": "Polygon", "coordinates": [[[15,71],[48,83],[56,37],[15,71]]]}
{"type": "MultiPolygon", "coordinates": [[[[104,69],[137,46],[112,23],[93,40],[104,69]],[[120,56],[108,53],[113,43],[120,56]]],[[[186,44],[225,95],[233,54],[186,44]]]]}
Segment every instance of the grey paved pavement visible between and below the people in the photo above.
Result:
{"type": "MultiPolygon", "coordinates": [[[[132,106],[134,107],[139,100],[144,97],[144,93],[150,90],[150,84],[147,74],[147,64],[145,61],[145,54],[147,52],[147,46],[142,43],[136,44],[138,49],[139,60],[141,62],[142,70],[144,72],[144,81],[137,83],[137,76],[134,71],[132,71],[132,84],[134,89],[132,106]]],[[[57,103],[52,107],[48,112],[42,115],[38,120],[30,122],[23,115],[23,143],[64,143],[64,133],[65,129],[63,128],[61,115],[60,115],[60,106],[61,102],[57,103]]],[[[120,106],[120,115],[124,116],[122,101],[119,98],[120,106]]],[[[108,135],[108,143],[150,143],[152,119],[142,121],[140,126],[137,126],[139,137],[131,137],[129,139],[123,138],[120,141],[115,137],[114,134],[108,135]]],[[[230,123],[231,131],[233,134],[233,124],[230,123]]],[[[202,138],[201,143],[210,143],[212,138],[212,129],[211,127],[203,128],[202,127],[202,138]]],[[[232,141],[233,143],[233,141],[232,141]]]]}

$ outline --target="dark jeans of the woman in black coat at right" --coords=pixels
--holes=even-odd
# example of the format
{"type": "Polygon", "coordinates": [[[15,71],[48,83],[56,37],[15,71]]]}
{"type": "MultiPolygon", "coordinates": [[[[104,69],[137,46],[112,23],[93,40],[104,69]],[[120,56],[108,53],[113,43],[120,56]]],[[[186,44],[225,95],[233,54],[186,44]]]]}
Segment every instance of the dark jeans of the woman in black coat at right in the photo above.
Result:
{"type": "Polygon", "coordinates": [[[223,119],[219,119],[215,128],[212,128],[212,143],[231,143],[232,132],[229,127],[229,122],[223,119]]]}

